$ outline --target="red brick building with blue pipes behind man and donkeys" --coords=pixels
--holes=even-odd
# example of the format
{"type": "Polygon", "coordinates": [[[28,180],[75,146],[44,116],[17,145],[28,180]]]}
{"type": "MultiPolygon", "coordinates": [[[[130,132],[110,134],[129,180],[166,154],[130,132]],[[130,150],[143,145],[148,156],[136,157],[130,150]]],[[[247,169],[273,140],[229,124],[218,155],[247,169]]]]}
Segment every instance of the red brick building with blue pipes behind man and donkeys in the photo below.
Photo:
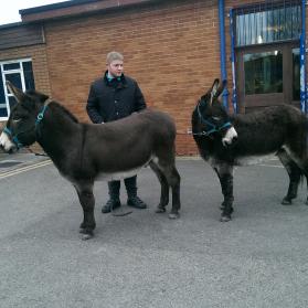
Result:
{"type": "Polygon", "coordinates": [[[116,50],[148,105],[176,119],[178,155],[194,155],[185,132],[215,77],[229,81],[231,113],[283,103],[305,108],[304,2],[74,0],[21,10],[22,22],[0,26],[0,120],[13,104],[4,87],[10,79],[50,94],[88,121],[89,84],[116,50]]]}

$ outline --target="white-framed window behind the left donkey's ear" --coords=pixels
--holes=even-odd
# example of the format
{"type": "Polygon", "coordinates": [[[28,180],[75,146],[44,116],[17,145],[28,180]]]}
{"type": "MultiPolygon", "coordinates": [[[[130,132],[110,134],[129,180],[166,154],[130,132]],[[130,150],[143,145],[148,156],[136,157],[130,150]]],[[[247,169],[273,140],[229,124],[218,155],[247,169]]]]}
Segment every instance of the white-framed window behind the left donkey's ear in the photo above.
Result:
{"type": "Polygon", "coordinates": [[[0,62],[0,120],[8,119],[12,106],[17,103],[6,86],[7,81],[22,91],[34,89],[31,59],[0,62]]]}

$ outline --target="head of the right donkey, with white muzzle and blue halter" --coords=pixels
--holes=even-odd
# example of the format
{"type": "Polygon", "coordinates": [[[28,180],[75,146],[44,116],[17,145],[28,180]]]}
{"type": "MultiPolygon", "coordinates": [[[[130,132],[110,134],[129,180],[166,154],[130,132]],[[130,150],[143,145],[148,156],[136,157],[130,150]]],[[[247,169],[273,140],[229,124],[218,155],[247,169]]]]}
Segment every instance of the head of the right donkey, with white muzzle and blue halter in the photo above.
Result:
{"type": "Polygon", "coordinates": [[[237,132],[220,100],[225,86],[226,81],[220,83],[220,79],[215,79],[212,87],[200,98],[195,110],[202,134],[213,138],[219,135],[222,144],[227,146],[237,139],[237,132]]]}

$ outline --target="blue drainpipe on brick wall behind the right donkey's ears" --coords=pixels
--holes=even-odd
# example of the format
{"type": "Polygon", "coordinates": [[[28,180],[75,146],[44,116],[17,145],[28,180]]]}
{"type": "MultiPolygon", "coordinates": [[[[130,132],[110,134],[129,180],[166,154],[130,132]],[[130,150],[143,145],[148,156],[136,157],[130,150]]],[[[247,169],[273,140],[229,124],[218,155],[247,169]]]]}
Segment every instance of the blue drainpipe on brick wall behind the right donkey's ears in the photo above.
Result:
{"type": "MultiPolygon", "coordinates": [[[[221,43],[221,78],[226,81],[226,67],[225,67],[225,33],[224,33],[224,0],[219,0],[219,15],[220,15],[220,43],[221,43]]],[[[229,109],[227,104],[229,92],[225,88],[223,91],[223,105],[229,109]]]]}

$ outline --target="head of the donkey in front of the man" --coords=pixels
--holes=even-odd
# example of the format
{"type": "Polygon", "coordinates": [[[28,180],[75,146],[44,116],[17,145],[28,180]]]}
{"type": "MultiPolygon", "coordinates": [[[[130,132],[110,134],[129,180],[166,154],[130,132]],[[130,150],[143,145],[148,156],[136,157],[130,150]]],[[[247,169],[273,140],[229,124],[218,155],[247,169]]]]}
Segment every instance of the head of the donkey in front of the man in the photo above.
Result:
{"type": "Polygon", "coordinates": [[[49,96],[36,91],[23,93],[10,82],[7,86],[17,99],[0,136],[0,146],[4,151],[12,152],[22,146],[30,146],[35,141],[35,121],[39,110],[49,96]]]}

